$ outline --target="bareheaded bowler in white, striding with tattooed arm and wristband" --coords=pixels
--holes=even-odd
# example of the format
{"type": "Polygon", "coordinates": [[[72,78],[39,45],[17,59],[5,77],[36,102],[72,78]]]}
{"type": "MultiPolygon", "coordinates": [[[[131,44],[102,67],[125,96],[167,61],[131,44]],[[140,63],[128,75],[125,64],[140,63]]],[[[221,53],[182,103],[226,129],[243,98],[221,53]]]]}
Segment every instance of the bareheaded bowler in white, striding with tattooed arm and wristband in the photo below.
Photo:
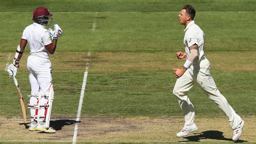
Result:
{"type": "Polygon", "coordinates": [[[244,121],[236,114],[228,104],[226,98],[219,92],[211,76],[210,62],[204,55],[204,33],[193,20],[195,13],[196,11],[191,5],[185,5],[178,15],[180,19],[179,23],[185,26],[185,52],[180,51],[176,53],[176,56],[178,59],[187,57],[187,60],[183,68],[173,69],[176,71],[174,76],[177,78],[173,88],[173,94],[178,99],[185,118],[184,127],[176,136],[183,137],[198,129],[194,122],[195,109],[187,94],[187,91],[196,83],[208,98],[213,100],[226,114],[230,126],[233,129],[233,141],[237,141],[242,134],[244,121]]]}

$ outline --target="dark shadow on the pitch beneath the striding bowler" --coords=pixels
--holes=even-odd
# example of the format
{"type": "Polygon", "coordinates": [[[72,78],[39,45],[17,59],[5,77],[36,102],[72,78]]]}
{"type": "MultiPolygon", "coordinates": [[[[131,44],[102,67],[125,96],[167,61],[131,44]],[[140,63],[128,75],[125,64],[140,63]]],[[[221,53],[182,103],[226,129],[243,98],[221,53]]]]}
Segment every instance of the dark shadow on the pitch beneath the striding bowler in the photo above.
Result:
{"type": "MultiPolygon", "coordinates": [[[[194,133],[194,134],[198,134],[198,135],[183,137],[187,140],[178,141],[178,142],[200,142],[200,140],[203,140],[203,139],[233,141],[231,138],[225,138],[223,136],[223,132],[219,132],[219,131],[205,131],[202,133],[194,133]]],[[[236,141],[236,143],[243,143],[243,142],[248,142],[248,141],[244,141],[244,140],[236,141]]]]}

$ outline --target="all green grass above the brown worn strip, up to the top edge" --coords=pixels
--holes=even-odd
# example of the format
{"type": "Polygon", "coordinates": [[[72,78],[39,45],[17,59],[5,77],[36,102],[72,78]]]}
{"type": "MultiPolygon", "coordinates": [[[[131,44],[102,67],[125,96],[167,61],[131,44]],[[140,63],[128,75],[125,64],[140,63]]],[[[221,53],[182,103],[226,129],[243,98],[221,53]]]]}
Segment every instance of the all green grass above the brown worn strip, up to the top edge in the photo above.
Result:
{"type": "MultiPolygon", "coordinates": [[[[40,1],[43,3],[43,1],[40,1]]],[[[38,5],[41,5],[38,2],[38,5]]],[[[187,2],[186,2],[187,3],[187,2]]],[[[254,25],[255,1],[197,1],[191,2],[197,11],[195,21],[203,29],[206,36],[206,48],[208,51],[249,51],[254,49],[256,34],[250,29],[254,25]],[[195,4],[196,3],[196,4],[195,4]],[[203,5],[203,6],[202,6],[203,5]],[[209,10],[210,5],[213,10],[209,10]],[[229,5],[229,7],[227,7],[229,5]],[[216,7],[218,6],[218,7],[216,7]],[[227,10],[221,10],[220,6],[227,10]],[[246,10],[239,10],[246,7],[246,10]],[[203,9],[203,10],[200,10],[203,9]]],[[[22,1],[3,1],[1,9],[1,52],[12,52],[20,42],[23,29],[32,23],[31,13],[26,10],[20,12],[22,8],[15,8],[22,1]],[[6,4],[5,4],[6,3],[6,4]],[[11,5],[12,8],[8,8],[11,5]],[[4,10],[8,8],[8,10],[4,10]],[[11,39],[10,39],[11,37],[11,39]]],[[[26,2],[27,4],[27,2],[26,2]]],[[[47,7],[47,2],[44,4],[47,7]]],[[[176,52],[183,47],[182,38],[183,26],[178,24],[178,14],[184,5],[181,1],[176,4],[174,1],[62,1],[61,4],[70,7],[61,7],[58,10],[50,3],[48,6],[53,13],[53,23],[58,23],[63,29],[63,37],[59,39],[58,51],[81,51],[81,52],[104,52],[104,51],[132,51],[132,52],[176,52]],[[125,4],[128,5],[125,5],[125,4]],[[171,4],[171,6],[168,5],[171,4]],[[112,7],[108,7],[110,4],[112,7]],[[113,4],[115,4],[113,6],[113,4]],[[143,7],[153,4],[154,7],[160,5],[159,11],[151,10],[150,7],[143,7]],[[94,10],[83,10],[74,7],[89,5],[94,10]],[[95,5],[95,6],[94,6],[95,5]],[[97,10],[104,6],[106,10],[97,10]],[[127,6],[130,11],[115,8],[127,6]],[[138,7],[138,8],[136,8],[138,7]],[[167,8],[165,8],[167,7],[167,8]],[[132,10],[135,8],[136,10],[132,10]],[[171,9],[175,8],[175,10],[171,9]],[[142,10],[146,10],[143,12],[142,10]],[[92,25],[96,23],[95,31],[92,25]],[[72,45],[70,45],[72,43],[72,45]]],[[[37,4],[36,4],[37,5],[37,4]]],[[[26,6],[27,8],[28,6],[26,6]]],[[[58,8],[60,8],[58,7],[58,8]]],[[[28,52],[28,51],[26,51],[28,52]]]]}

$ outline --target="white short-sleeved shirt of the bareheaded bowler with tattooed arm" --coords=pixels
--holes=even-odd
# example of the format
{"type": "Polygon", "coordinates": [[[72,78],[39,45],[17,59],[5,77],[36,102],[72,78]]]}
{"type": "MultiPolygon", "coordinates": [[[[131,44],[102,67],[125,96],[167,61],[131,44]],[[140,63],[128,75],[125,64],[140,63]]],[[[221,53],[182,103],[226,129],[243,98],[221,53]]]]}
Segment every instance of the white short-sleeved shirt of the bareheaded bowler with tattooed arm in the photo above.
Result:
{"type": "Polygon", "coordinates": [[[193,64],[196,64],[200,61],[200,59],[204,59],[204,49],[205,49],[205,43],[204,43],[204,33],[200,29],[199,26],[195,24],[195,21],[192,20],[187,27],[184,29],[184,45],[185,45],[185,51],[187,53],[187,57],[189,57],[189,47],[197,44],[198,45],[198,54],[197,58],[195,59],[193,64]]]}

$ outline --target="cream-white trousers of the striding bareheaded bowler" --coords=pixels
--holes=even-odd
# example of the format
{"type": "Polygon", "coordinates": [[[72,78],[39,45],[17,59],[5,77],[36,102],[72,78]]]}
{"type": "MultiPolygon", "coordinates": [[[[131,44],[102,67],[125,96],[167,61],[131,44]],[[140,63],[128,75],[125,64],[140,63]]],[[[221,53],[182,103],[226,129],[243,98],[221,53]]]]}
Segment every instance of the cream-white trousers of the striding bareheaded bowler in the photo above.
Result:
{"type": "Polygon", "coordinates": [[[213,100],[218,107],[223,110],[231,128],[236,129],[242,122],[242,119],[228,104],[226,98],[219,92],[210,73],[210,62],[206,58],[187,69],[186,72],[177,79],[173,88],[173,94],[177,97],[184,114],[185,125],[194,124],[195,109],[189,100],[187,91],[189,91],[195,83],[203,90],[208,98],[213,100]]]}

